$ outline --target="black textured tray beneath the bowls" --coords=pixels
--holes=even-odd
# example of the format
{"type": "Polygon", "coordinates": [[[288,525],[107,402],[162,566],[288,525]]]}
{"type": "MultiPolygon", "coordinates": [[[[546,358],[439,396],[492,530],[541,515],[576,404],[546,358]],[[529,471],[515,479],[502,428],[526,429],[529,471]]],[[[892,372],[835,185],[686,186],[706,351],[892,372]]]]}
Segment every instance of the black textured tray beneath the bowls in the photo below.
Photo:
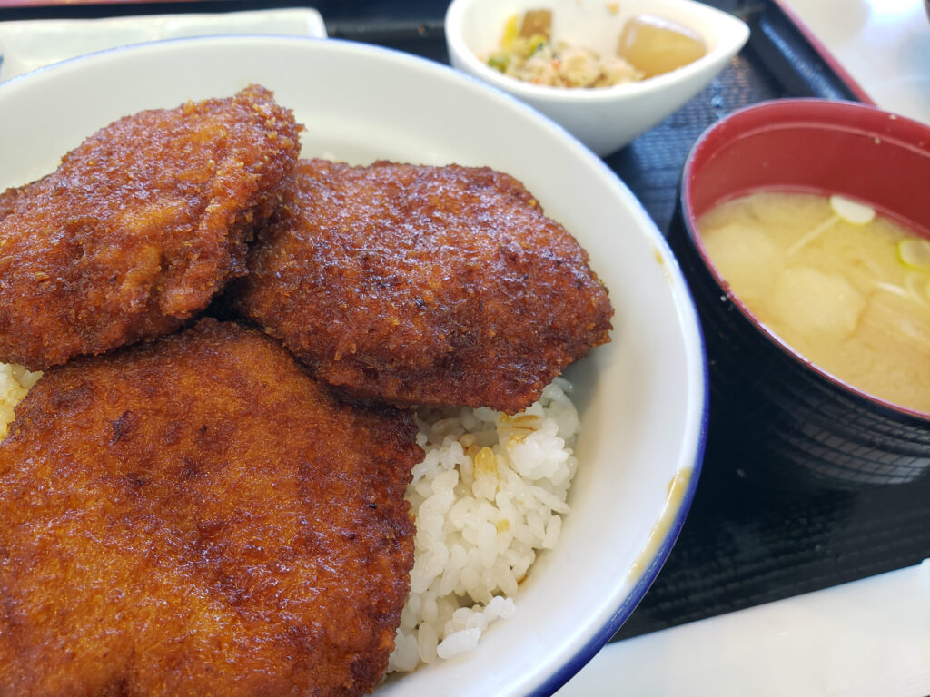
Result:
{"type": "MultiPolygon", "coordinates": [[[[774,0],[716,0],[751,26],[749,44],[695,99],[605,162],[667,230],[678,178],[697,137],[764,99],[857,99],[774,0]]],[[[107,3],[0,9],[0,20],[302,7],[303,3],[107,3]]],[[[309,4],[333,37],[445,62],[445,0],[309,4]]],[[[725,428],[725,424],[711,424],[725,428]]],[[[615,639],[681,625],[919,563],[930,557],[930,479],[857,492],[785,492],[745,476],[752,463],[709,453],[684,530],[615,639]]]]}

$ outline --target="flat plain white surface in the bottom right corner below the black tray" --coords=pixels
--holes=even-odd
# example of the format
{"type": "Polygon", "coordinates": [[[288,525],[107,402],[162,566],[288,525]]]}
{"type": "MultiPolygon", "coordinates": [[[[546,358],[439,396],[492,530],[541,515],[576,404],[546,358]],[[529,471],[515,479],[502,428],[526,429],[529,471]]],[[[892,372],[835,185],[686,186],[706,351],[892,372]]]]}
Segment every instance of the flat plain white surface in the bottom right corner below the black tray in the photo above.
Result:
{"type": "Polygon", "coordinates": [[[925,697],[930,559],[609,644],[555,697],[925,697]]]}

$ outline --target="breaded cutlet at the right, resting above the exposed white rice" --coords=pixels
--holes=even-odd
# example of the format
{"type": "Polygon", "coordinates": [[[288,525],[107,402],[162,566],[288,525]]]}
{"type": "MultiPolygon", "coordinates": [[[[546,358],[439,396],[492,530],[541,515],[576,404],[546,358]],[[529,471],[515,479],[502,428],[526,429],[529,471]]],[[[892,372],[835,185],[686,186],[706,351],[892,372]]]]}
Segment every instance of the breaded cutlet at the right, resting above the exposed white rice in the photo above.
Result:
{"type": "Polygon", "coordinates": [[[233,302],[329,383],[515,413],[608,341],[604,286],[516,179],[301,161],[233,302]]]}

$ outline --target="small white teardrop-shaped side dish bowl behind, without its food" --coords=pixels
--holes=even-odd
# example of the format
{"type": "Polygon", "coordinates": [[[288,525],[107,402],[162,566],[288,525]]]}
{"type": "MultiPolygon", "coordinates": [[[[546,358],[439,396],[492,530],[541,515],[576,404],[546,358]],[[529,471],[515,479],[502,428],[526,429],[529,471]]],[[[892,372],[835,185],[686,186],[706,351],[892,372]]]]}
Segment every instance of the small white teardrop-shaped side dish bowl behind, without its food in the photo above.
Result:
{"type": "Polygon", "coordinates": [[[617,151],[658,125],[724,69],[749,39],[737,18],[691,0],[453,0],[445,13],[449,60],[522,99],[598,155],[617,151]],[[487,56],[498,50],[504,24],[527,9],[552,10],[553,40],[613,56],[624,24],[634,15],[671,20],[700,35],[707,53],[693,63],[638,83],[577,89],[533,85],[498,72],[487,56]]]}

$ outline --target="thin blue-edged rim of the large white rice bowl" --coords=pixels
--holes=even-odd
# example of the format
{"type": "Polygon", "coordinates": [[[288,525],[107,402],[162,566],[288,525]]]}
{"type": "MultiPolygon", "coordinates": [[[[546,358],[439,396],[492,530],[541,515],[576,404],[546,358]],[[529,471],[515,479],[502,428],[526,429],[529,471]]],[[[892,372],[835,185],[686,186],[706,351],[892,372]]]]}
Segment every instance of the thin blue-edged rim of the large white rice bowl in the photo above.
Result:
{"type": "MultiPolygon", "coordinates": [[[[658,227],[655,224],[655,221],[652,220],[652,217],[646,212],[643,204],[636,198],[635,195],[630,191],[630,189],[623,183],[623,181],[617,176],[617,174],[604,163],[604,161],[595,155],[591,150],[589,150],[585,145],[581,143],[578,138],[575,138],[571,133],[569,133],[562,125],[552,121],[549,117],[544,114],[536,111],[532,107],[525,104],[525,102],[514,97],[512,94],[509,94],[505,90],[497,87],[496,85],[490,85],[483,80],[470,75],[465,72],[461,72],[452,68],[451,66],[419,57],[415,54],[405,53],[403,51],[395,50],[392,48],[387,48],[384,46],[377,46],[371,44],[365,44],[362,42],[349,41],[345,39],[333,39],[333,38],[317,38],[309,36],[287,36],[287,35],[266,35],[266,34],[212,34],[206,36],[185,36],[169,39],[160,39],[157,41],[144,41],[137,44],[130,44],[126,46],[116,46],[113,48],[105,48],[100,51],[94,51],[92,53],[85,54],[83,56],[76,56],[71,59],[64,59],[50,65],[42,66],[40,68],[35,68],[32,71],[21,73],[15,77],[9,78],[8,80],[0,83],[0,93],[3,91],[3,87],[7,84],[12,84],[19,82],[22,78],[27,78],[29,75],[38,72],[46,72],[50,70],[57,69],[61,65],[71,64],[75,61],[83,61],[88,57],[100,56],[104,54],[111,53],[121,53],[126,50],[140,49],[144,46],[153,46],[153,45],[162,45],[162,44],[175,44],[175,43],[193,43],[199,41],[211,41],[216,40],[218,43],[220,41],[230,41],[230,40],[272,40],[272,41],[281,41],[282,43],[304,43],[304,42],[323,42],[333,43],[338,45],[350,45],[350,46],[360,46],[364,47],[365,50],[372,53],[378,54],[383,53],[385,55],[392,56],[393,59],[402,59],[410,62],[419,64],[422,67],[428,67],[429,70],[436,72],[444,72],[447,75],[453,77],[454,80],[458,80],[461,83],[471,85],[479,90],[490,91],[498,99],[504,99],[508,102],[513,108],[516,108],[520,112],[524,112],[526,116],[542,122],[550,127],[551,130],[556,131],[556,136],[561,135],[562,138],[570,141],[571,145],[574,147],[578,154],[585,158],[589,164],[593,165],[595,168],[600,170],[602,175],[606,175],[615,186],[618,187],[620,191],[624,193],[624,198],[629,200],[629,202],[635,205],[640,214],[648,221],[652,223],[652,234],[650,234],[649,241],[657,245],[660,248],[663,263],[667,267],[671,267],[671,276],[674,277],[675,281],[680,286],[681,292],[676,293],[675,286],[670,283],[671,293],[673,295],[675,305],[679,309],[679,317],[682,318],[681,322],[686,320],[686,317],[682,317],[681,310],[684,309],[686,312],[690,313],[691,319],[694,322],[694,328],[696,330],[697,337],[697,358],[700,362],[700,379],[698,381],[697,388],[701,390],[700,395],[700,410],[697,423],[697,441],[695,443],[695,449],[693,454],[692,462],[690,463],[691,474],[688,480],[688,484],[682,494],[682,498],[678,507],[675,511],[674,519],[671,520],[668,531],[662,536],[661,544],[658,545],[658,549],[654,555],[652,555],[649,560],[649,564],[639,575],[639,578],[633,584],[630,592],[623,598],[622,602],[619,604],[617,609],[609,617],[609,619],[604,622],[591,636],[587,639],[584,644],[574,652],[574,655],[570,656],[565,660],[565,663],[560,665],[554,672],[552,672],[548,677],[545,677],[541,680],[538,686],[529,692],[527,692],[528,697],[550,697],[552,693],[565,685],[568,680],[578,674],[578,671],[581,670],[586,664],[588,664],[594,655],[601,651],[604,648],[604,645],[617,633],[618,629],[624,622],[630,617],[632,612],[636,609],[636,606],[639,605],[640,601],[644,598],[649,587],[655,582],[658,577],[658,572],[661,570],[662,566],[665,564],[665,561],[668,559],[669,554],[671,553],[671,548],[674,546],[675,542],[678,539],[679,534],[682,531],[684,526],[684,520],[687,518],[687,514],[691,509],[692,502],[694,501],[695,493],[697,491],[697,483],[700,479],[701,467],[704,459],[704,453],[706,449],[707,442],[707,432],[708,432],[708,423],[710,420],[710,374],[709,366],[707,362],[707,348],[704,341],[704,336],[700,327],[700,319],[697,313],[697,305],[695,304],[694,297],[691,293],[690,288],[688,287],[687,282],[684,279],[684,273],[682,272],[678,261],[671,252],[671,247],[667,240],[662,236],[661,232],[658,231],[658,227]]],[[[678,472],[681,472],[684,468],[688,467],[684,465],[679,468],[678,472]]],[[[668,506],[668,500],[666,506],[668,506]]],[[[663,508],[663,513],[667,508],[663,508]]]]}

